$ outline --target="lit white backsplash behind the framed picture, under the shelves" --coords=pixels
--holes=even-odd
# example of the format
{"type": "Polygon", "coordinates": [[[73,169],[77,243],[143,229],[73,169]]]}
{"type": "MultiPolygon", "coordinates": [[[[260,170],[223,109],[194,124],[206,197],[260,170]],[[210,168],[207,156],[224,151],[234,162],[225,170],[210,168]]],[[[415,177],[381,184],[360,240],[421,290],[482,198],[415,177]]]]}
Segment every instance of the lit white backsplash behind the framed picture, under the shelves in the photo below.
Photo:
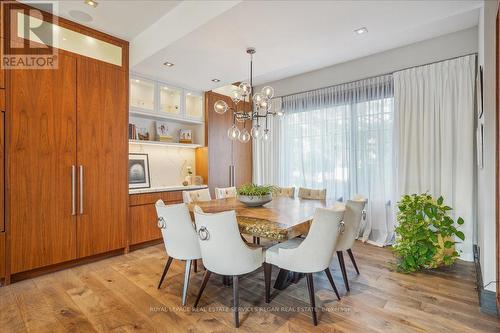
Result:
{"type": "Polygon", "coordinates": [[[196,174],[194,149],[131,144],[129,152],[148,154],[151,187],[182,185],[187,166],[196,174]]]}

